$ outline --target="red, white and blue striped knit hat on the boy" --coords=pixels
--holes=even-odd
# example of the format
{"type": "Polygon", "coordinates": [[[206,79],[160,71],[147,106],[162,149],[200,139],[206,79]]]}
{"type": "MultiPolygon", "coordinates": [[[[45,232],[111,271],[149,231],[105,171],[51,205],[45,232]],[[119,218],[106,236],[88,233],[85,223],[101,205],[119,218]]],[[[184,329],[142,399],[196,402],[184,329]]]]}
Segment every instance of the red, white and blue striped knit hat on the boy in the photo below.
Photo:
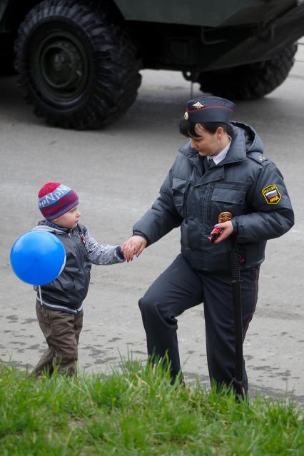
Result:
{"type": "Polygon", "coordinates": [[[79,203],[74,190],[59,182],[48,182],[38,194],[39,209],[47,220],[62,216],[79,203]]]}

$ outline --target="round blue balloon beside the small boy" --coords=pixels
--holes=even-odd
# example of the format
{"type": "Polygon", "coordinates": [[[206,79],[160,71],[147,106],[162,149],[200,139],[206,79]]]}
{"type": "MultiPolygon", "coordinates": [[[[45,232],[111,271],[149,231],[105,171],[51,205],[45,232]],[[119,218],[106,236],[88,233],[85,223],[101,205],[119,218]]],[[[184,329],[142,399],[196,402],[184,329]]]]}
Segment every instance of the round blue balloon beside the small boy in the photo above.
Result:
{"type": "Polygon", "coordinates": [[[33,230],[20,236],[11,248],[11,268],[31,285],[46,285],[64,269],[66,250],[56,235],[33,230]]]}

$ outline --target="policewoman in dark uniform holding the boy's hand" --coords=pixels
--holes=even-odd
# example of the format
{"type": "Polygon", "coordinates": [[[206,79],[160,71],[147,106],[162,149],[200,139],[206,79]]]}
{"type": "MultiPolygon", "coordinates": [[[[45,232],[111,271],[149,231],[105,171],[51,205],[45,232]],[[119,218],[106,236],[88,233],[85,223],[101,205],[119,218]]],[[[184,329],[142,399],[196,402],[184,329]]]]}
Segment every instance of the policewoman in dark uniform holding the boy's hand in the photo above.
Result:
{"type": "MultiPolygon", "coordinates": [[[[181,226],[181,254],[139,301],[148,355],[168,353],[174,380],[181,370],[176,317],[203,303],[210,379],[235,387],[231,241],[238,246],[244,339],[258,299],[266,241],[286,233],[294,217],[283,176],[264,156],[253,128],[230,121],[233,107],[216,96],[188,101],[180,130],[189,141],[123,251],[132,260],[181,226]],[[218,223],[223,213],[230,213],[230,220],[220,217],[218,223]]],[[[245,363],[242,387],[247,392],[245,363]]]]}

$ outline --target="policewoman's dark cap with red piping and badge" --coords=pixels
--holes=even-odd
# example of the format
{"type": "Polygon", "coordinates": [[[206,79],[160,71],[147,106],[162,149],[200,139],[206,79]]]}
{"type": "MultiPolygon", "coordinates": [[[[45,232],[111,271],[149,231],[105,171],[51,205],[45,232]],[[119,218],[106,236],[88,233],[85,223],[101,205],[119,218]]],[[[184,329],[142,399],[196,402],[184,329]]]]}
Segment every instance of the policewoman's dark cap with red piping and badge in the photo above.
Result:
{"type": "Polygon", "coordinates": [[[228,123],[233,113],[234,103],[219,96],[205,95],[193,98],[187,103],[185,119],[189,122],[228,123]]]}

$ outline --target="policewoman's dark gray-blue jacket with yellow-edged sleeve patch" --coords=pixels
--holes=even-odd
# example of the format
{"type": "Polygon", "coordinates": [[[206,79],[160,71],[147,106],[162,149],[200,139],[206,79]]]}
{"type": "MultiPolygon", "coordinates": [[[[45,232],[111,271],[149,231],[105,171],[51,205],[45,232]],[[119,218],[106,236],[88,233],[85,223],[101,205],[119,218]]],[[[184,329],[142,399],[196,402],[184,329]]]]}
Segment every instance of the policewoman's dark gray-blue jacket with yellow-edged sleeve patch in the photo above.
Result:
{"type": "Polygon", "coordinates": [[[253,128],[231,122],[233,139],[223,161],[205,171],[190,142],[180,149],[160,196],[133,226],[148,244],[181,226],[181,253],[197,270],[229,270],[231,240],[212,244],[208,236],[223,211],[233,214],[240,269],[264,260],[266,240],[278,238],[294,223],[283,176],[263,156],[263,143],[253,128]]]}

